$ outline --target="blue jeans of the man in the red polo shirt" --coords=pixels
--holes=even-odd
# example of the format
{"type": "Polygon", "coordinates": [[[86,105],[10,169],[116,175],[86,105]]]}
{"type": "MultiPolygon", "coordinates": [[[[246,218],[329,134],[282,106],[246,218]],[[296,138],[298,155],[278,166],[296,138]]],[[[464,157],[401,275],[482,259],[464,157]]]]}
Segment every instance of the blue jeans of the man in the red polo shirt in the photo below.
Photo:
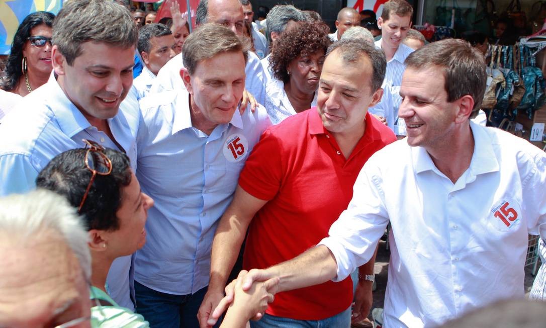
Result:
{"type": "Polygon", "coordinates": [[[349,328],[351,326],[351,308],[322,320],[295,320],[265,314],[259,321],[250,321],[252,328],[349,328]]]}

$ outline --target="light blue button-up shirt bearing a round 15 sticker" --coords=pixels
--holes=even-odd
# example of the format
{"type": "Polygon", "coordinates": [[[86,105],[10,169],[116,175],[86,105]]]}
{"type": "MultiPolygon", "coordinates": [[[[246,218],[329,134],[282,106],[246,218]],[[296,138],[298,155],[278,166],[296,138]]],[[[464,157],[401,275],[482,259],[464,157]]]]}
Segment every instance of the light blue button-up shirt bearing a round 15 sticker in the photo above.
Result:
{"type": "Polygon", "coordinates": [[[207,136],[192,126],[187,91],[140,101],[138,171],[148,210],[147,241],[136,253],[135,280],[156,291],[188,295],[209,284],[212,238],[232,201],[239,173],[271,125],[262,106],[236,110],[207,136]]]}

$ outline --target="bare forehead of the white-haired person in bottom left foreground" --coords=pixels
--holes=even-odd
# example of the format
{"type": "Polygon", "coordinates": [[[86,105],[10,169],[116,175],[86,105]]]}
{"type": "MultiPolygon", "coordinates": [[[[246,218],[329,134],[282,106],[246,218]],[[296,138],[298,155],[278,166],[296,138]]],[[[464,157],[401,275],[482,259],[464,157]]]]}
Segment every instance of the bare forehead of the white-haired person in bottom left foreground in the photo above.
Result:
{"type": "Polygon", "coordinates": [[[23,247],[0,244],[0,317],[11,318],[21,309],[54,314],[77,302],[78,285],[85,279],[77,257],[54,234],[23,247]]]}

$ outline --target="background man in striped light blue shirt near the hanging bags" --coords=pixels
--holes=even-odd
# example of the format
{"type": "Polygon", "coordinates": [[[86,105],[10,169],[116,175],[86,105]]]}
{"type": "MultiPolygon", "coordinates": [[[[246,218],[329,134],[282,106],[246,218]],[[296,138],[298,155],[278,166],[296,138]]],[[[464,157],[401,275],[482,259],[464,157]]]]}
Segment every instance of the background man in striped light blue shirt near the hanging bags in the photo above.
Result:
{"type": "Polygon", "coordinates": [[[383,50],[387,58],[387,71],[383,81],[383,98],[375,107],[370,107],[372,114],[382,116],[397,136],[405,136],[403,120],[398,119],[400,85],[402,74],[406,70],[405,61],[413,49],[403,44],[411,28],[413,7],[406,0],[389,0],[383,5],[377,26],[381,29],[381,39],[375,42],[376,48],[383,50]]]}

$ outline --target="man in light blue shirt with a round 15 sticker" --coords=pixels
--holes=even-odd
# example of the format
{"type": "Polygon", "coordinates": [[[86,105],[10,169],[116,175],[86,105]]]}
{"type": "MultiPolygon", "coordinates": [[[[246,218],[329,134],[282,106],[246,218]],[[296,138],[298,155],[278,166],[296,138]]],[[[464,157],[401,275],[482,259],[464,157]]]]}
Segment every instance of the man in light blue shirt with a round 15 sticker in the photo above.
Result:
{"type": "Polygon", "coordinates": [[[182,54],[186,88],[141,99],[137,139],[136,177],[155,207],[136,254],[136,301],[150,325],[162,328],[199,326],[217,221],[271,125],[261,106],[240,113],[247,49],[232,31],[203,25],[182,54]]]}

